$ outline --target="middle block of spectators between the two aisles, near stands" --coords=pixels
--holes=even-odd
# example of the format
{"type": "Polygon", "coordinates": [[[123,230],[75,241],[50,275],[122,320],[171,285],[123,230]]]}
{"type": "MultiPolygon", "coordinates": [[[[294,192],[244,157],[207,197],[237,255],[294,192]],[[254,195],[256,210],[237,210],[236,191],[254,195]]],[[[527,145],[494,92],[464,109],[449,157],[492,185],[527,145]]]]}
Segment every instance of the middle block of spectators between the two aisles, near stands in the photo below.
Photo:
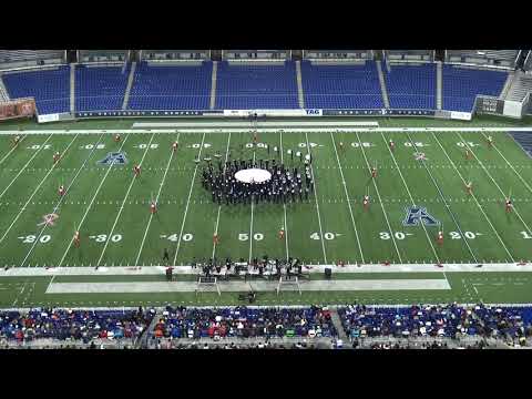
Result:
{"type": "Polygon", "coordinates": [[[170,307],[155,324],[154,338],[282,338],[336,337],[327,307],[307,308],[186,308],[170,307]]]}

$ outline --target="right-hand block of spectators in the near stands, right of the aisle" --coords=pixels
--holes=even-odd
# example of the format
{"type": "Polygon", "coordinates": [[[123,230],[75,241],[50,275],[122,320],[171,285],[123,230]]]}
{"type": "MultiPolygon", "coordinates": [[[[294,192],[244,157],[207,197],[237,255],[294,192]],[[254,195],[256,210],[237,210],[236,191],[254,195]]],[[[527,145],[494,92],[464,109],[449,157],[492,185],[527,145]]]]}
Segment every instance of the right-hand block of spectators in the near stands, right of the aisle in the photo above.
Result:
{"type": "Polygon", "coordinates": [[[525,341],[532,336],[532,308],[475,305],[413,305],[338,309],[351,339],[365,337],[480,337],[525,341]]]}

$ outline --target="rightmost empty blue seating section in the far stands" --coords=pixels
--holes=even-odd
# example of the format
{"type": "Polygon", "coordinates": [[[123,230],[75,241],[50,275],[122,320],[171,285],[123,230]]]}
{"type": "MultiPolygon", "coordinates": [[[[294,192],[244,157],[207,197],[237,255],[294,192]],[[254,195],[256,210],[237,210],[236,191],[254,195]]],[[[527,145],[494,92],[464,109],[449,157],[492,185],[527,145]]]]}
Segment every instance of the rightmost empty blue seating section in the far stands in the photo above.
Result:
{"type": "Polygon", "coordinates": [[[471,112],[477,94],[499,96],[508,73],[443,65],[443,110],[471,112]]]}

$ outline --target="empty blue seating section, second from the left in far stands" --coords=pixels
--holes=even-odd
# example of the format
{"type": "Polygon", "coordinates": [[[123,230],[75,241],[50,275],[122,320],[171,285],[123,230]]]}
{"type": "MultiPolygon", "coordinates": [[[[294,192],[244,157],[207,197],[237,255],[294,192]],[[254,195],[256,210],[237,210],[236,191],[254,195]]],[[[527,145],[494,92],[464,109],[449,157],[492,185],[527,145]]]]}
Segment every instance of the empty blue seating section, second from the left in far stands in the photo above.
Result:
{"type": "Polygon", "coordinates": [[[124,101],[130,69],[84,66],[75,69],[75,110],[120,110],[124,101]]]}

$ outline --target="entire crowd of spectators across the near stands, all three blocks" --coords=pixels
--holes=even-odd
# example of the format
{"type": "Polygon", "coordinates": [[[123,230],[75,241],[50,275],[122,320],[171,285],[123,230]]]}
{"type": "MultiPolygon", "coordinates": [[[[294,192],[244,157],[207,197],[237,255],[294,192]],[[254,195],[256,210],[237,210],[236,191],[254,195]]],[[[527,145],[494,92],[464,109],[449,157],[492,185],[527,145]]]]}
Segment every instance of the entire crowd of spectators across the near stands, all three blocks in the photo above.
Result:
{"type": "Polygon", "coordinates": [[[105,342],[157,349],[482,349],[524,347],[532,337],[532,307],[348,305],[337,311],[341,331],[332,323],[332,316],[338,323],[336,314],[315,305],[2,310],[0,345],[47,347],[53,340],[62,348],[93,349],[105,348],[105,342]]]}

